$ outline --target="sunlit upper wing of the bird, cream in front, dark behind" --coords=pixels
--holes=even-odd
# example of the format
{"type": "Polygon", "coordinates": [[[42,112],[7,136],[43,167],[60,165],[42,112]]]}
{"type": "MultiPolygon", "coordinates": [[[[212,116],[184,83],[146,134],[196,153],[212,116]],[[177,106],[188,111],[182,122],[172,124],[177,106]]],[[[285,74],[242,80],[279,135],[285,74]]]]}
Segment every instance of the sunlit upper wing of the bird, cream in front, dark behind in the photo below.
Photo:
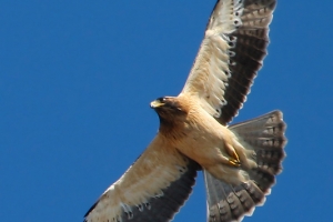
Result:
{"type": "Polygon", "coordinates": [[[222,124],[242,108],[262,67],[275,0],[219,0],[181,93],[222,124]]]}

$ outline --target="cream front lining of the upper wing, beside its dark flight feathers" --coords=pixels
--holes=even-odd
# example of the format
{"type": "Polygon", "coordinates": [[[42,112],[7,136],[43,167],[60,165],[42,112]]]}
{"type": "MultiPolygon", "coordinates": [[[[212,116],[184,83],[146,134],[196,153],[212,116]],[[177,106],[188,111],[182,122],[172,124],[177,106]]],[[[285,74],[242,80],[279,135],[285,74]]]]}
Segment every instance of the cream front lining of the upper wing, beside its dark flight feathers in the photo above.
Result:
{"type": "Polygon", "coordinates": [[[201,105],[213,117],[221,115],[226,104],[223,98],[231,77],[230,58],[235,39],[229,37],[241,24],[242,1],[220,1],[212,12],[203,42],[182,93],[196,95],[201,105]]]}

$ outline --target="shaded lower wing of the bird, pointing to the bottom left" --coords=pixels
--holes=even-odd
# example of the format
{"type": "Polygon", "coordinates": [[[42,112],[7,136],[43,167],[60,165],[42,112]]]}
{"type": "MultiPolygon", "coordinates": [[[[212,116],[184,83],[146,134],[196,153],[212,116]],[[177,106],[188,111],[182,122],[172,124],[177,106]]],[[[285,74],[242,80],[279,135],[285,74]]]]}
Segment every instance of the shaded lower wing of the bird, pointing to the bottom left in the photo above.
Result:
{"type": "Polygon", "coordinates": [[[159,135],[84,215],[84,222],[170,221],[189,198],[199,165],[159,135]]]}

